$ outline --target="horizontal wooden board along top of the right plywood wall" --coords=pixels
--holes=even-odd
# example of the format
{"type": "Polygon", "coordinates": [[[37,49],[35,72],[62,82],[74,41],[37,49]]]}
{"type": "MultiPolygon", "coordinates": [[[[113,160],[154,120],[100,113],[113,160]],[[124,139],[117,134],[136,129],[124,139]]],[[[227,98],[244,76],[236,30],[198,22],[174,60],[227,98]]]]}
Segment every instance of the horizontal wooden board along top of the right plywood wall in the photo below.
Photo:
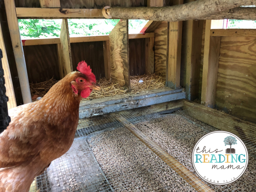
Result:
{"type": "Polygon", "coordinates": [[[215,37],[256,37],[256,29],[212,29],[210,35],[215,37]]]}

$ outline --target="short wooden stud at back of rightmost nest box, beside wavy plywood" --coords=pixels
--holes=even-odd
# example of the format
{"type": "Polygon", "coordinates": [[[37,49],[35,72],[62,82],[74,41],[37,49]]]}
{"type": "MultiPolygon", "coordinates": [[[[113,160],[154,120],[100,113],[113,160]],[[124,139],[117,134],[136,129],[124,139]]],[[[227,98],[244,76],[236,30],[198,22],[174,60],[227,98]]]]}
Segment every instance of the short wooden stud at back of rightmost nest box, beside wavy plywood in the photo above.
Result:
{"type": "Polygon", "coordinates": [[[154,73],[154,56],[155,56],[155,38],[150,37],[145,39],[145,73],[154,73]]]}

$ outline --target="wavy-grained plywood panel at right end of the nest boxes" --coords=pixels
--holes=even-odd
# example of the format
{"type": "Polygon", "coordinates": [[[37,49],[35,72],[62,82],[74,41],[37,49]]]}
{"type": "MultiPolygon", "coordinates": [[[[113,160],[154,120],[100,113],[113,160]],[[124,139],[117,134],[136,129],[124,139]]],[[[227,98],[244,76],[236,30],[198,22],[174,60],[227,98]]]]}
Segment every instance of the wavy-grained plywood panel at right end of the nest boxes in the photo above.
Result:
{"type": "Polygon", "coordinates": [[[167,22],[161,24],[155,33],[155,73],[165,76],[167,65],[167,22]]]}

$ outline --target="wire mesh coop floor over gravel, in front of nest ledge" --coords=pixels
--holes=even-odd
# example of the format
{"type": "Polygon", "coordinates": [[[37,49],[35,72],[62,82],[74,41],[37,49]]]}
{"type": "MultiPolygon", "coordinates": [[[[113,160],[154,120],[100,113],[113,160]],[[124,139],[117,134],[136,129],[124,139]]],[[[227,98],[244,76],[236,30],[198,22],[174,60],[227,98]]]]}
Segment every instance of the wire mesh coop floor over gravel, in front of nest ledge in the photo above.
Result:
{"type": "MultiPolygon", "coordinates": [[[[250,159],[236,182],[214,186],[197,177],[191,163],[193,146],[218,129],[191,117],[181,103],[171,102],[169,110],[158,104],[79,120],[70,150],[35,179],[30,191],[255,191],[253,137],[241,138],[250,159]],[[169,166],[170,158],[177,161],[175,168],[169,166]],[[180,176],[181,167],[193,181],[180,176]]],[[[231,127],[227,131],[232,132],[231,127]]]]}

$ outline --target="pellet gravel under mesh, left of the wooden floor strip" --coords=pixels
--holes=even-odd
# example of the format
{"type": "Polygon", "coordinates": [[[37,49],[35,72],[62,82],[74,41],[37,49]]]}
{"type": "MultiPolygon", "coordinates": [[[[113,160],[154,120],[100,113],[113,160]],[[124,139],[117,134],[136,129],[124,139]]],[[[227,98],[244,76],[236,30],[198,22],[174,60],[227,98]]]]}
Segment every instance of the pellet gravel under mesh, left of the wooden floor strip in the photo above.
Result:
{"type": "Polygon", "coordinates": [[[88,140],[115,191],[195,191],[126,128],[88,140]]]}

